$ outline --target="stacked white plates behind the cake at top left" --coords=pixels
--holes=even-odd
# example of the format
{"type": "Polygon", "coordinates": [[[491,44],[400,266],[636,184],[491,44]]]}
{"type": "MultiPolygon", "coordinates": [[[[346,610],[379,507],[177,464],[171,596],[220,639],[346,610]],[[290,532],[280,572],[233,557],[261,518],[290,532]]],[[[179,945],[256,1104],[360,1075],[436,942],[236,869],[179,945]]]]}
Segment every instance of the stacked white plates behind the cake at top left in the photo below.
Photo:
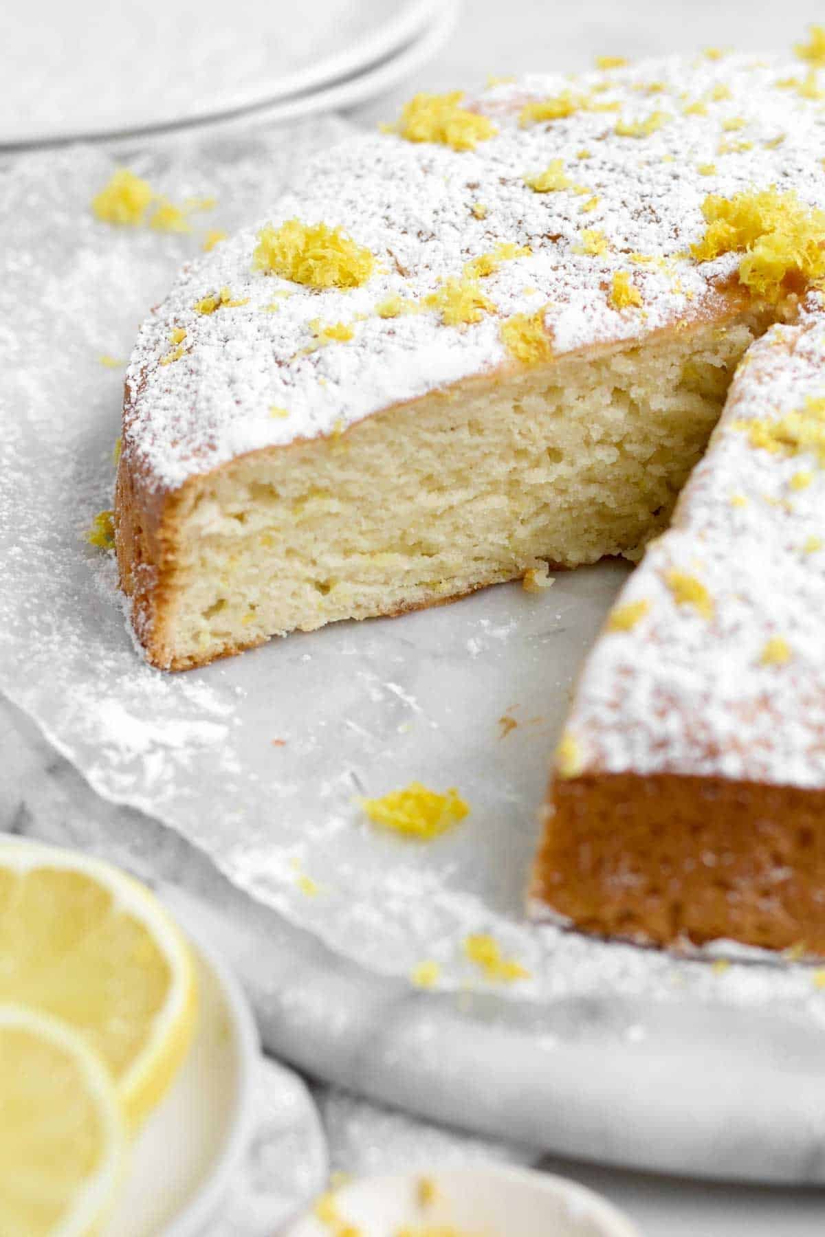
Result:
{"type": "Polygon", "coordinates": [[[353,106],[440,46],[454,0],[4,0],[0,150],[353,106]]]}

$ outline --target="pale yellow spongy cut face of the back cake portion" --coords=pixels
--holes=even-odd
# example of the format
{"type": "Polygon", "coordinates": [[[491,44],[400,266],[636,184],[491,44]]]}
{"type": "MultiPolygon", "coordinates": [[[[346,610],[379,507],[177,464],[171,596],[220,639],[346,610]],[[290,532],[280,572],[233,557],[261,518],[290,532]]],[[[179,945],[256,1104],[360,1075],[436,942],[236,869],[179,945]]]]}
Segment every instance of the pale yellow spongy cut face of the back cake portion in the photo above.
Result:
{"type": "Polygon", "coordinates": [[[741,314],[474,379],[195,479],[169,538],[163,661],[433,604],[542,562],[637,555],[761,330],[741,314]]]}

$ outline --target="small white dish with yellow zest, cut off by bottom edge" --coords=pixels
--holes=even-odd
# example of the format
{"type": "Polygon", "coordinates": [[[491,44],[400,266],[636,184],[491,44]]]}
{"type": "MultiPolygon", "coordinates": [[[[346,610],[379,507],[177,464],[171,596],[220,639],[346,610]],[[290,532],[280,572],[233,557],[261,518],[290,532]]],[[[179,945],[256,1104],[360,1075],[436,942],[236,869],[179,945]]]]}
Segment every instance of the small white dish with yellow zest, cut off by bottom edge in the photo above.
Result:
{"type": "MultiPolygon", "coordinates": [[[[439,1226],[474,1237],[639,1237],[592,1190],[531,1169],[481,1165],[434,1173],[362,1178],[335,1191],[336,1210],[360,1237],[395,1237],[406,1225],[439,1226]],[[432,1200],[422,1201],[422,1180],[432,1200]]],[[[283,1237],[329,1237],[307,1215],[283,1237]]]]}

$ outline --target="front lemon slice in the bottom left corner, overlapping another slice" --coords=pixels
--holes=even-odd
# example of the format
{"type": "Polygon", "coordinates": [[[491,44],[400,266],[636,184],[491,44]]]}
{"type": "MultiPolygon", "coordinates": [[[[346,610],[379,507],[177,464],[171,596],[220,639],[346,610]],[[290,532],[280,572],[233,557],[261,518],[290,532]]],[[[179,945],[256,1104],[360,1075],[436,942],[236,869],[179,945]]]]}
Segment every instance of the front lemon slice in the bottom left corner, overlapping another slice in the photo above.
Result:
{"type": "Polygon", "coordinates": [[[0,1233],[87,1237],[120,1184],[127,1136],[115,1082],[71,1027],[0,1006],[0,1233]]]}

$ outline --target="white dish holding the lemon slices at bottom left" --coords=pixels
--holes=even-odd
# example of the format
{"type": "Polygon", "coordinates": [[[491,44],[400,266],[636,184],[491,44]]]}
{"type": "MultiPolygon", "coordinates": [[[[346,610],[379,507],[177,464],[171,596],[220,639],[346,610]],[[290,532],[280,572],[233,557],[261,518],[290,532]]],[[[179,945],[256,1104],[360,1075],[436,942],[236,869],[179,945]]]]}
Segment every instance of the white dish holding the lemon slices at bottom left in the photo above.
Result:
{"type": "Polygon", "coordinates": [[[204,1232],[249,1147],[257,1030],[231,972],[199,940],[192,943],[200,992],[195,1039],[140,1132],[118,1207],[100,1237],[204,1232]]]}

